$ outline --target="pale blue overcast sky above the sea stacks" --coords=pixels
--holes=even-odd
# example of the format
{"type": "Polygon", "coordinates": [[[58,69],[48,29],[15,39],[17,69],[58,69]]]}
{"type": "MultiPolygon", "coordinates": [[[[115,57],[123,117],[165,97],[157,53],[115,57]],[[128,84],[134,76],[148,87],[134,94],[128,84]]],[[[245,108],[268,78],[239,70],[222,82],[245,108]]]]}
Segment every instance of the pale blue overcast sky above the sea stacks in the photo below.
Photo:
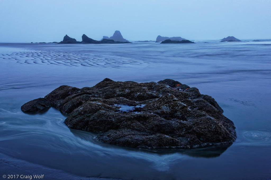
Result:
{"type": "Polygon", "coordinates": [[[271,0],[0,0],[0,42],[271,39],[271,0]]]}

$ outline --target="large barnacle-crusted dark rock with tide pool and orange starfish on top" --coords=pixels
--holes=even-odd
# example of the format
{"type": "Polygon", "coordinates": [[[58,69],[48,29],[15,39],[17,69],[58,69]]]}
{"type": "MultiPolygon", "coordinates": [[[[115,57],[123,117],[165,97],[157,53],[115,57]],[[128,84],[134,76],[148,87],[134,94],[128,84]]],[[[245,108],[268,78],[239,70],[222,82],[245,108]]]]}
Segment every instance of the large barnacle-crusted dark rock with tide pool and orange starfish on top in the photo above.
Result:
{"type": "MultiPolygon", "coordinates": [[[[191,148],[231,144],[236,138],[233,122],[211,96],[171,79],[137,83],[106,78],[82,89],[60,86],[44,99],[69,114],[64,121],[69,128],[99,133],[96,140],[108,144],[191,148]]],[[[23,106],[22,111],[27,103],[23,106]]],[[[36,109],[32,103],[29,108],[36,109]]]]}

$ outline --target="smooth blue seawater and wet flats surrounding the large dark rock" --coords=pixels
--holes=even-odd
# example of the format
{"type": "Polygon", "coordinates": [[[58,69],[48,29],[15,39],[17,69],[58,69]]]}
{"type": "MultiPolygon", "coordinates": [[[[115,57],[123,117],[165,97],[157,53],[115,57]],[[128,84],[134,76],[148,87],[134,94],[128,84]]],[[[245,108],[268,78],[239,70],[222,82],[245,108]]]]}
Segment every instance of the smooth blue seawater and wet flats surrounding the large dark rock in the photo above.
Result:
{"type": "Polygon", "coordinates": [[[271,41],[195,42],[1,43],[0,152],[90,177],[271,179],[271,41]],[[237,140],[231,146],[191,150],[124,148],[67,128],[66,117],[54,108],[36,115],[20,110],[61,85],[91,87],[104,78],[169,78],[197,87],[234,122],[237,140]]]}

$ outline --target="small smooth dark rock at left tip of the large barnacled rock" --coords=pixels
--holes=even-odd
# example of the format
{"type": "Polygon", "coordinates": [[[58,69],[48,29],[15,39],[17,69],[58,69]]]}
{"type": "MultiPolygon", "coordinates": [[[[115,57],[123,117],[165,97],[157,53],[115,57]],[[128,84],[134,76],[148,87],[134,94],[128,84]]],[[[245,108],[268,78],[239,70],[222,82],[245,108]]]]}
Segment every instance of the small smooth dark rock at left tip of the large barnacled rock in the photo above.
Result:
{"type": "Polygon", "coordinates": [[[21,110],[24,113],[40,112],[48,109],[52,106],[52,103],[44,98],[34,99],[22,105],[21,110]]]}

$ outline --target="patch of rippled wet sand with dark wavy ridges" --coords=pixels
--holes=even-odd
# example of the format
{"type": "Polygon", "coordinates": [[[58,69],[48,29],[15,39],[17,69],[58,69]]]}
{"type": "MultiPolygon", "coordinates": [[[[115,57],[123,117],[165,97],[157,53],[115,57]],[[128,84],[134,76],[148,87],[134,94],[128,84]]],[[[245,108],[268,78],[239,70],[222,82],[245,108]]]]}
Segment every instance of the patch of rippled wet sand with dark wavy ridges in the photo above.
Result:
{"type": "Polygon", "coordinates": [[[69,52],[14,52],[1,54],[2,59],[16,60],[21,64],[55,64],[64,66],[88,66],[97,68],[126,68],[133,65],[146,64],[146,62],[127,57],[114,57],[109,55],[94,55],[92,53],[69,52]]]}

